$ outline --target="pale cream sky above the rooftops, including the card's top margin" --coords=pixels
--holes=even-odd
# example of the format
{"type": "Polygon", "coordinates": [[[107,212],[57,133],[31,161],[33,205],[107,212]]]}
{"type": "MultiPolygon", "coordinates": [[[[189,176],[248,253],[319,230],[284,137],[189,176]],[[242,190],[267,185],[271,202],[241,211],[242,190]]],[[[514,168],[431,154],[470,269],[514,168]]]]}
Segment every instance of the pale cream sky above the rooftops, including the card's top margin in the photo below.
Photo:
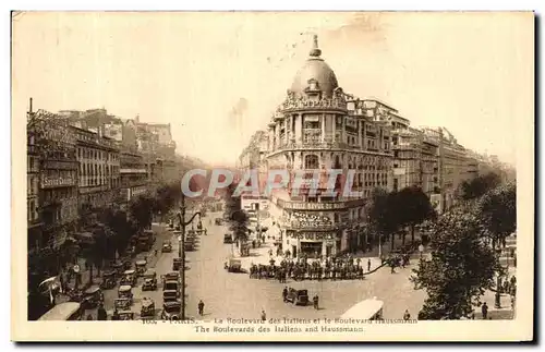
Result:
{"type": "Polygon", "coordinates": [[[522,13],[21,13],[12,113],[106,108],[170,123],[178,151],[232,165],[304,64],[312,35],[344,92],[516,163],[534,116],[522,13]],[[528,131],[528,130],[524,130],[528,131]]]}

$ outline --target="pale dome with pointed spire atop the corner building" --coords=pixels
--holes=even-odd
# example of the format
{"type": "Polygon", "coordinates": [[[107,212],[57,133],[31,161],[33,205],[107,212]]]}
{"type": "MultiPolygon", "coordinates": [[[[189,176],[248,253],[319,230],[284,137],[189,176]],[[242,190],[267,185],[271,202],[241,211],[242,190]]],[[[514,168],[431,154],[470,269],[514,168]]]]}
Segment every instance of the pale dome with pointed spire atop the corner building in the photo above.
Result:
{"type": "Polygon", "coordinates": [[[337,82],[337,76],[334,70],[319,57],[322,50],[318,49],[317,36],[314,36],[314,46],[310,52],[310,58],[306,60],[305,64],[301,70],[299,70],[293,84],[291,85],[291,92],[295,96],[306,96],[305,90],[307,89],[319,89],[322,90],[322,97],[330,98],[332,97],[335,88],[339,86],[337,82]],[[314,86],[312,81],[315,81],[314,86]]]}

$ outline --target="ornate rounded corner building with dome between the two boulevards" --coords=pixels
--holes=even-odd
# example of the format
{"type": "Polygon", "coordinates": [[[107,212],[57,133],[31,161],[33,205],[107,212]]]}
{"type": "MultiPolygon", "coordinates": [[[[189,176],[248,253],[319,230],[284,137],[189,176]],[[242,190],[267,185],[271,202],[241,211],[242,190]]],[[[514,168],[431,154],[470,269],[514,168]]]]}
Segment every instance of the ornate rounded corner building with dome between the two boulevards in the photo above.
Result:
{"type": "Polygon", "coordinates": [[[306,187],[294,194],[288,187],[270,195],[269,213],[282,234],[282,252],[295,257],[338,255],[373,240],[365,231],[365,205],[373,190],[391,191],[392,183],[389,109],[344,93],[314,37],[308,59],[267,130],[266,169],[288,170],[291,180],[298,170],[304,178],[322,175],[316,194],[306,187]],[[352,191],[362,196],[326,194],[331,169],[344,174],[354,170],[352,191]]]}

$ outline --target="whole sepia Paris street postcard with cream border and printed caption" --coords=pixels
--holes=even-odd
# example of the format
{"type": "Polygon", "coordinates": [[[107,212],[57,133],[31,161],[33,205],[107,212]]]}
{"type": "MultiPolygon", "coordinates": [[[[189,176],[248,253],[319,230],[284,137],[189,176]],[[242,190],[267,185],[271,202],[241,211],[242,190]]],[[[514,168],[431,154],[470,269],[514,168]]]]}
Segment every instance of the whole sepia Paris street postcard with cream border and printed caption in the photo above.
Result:
{"type": "Polygon", "coordinates": [[[532,340],[534,21],[13,12],[12,339],[532,340]]]}

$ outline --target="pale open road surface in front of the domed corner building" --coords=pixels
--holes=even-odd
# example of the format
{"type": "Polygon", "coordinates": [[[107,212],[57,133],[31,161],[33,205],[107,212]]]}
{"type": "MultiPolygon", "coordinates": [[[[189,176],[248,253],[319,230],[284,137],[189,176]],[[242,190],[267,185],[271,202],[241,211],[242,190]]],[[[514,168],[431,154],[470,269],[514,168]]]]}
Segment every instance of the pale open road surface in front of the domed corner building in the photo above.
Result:
{"type": "MultiPolygon", "coordinates": [[[[225,226],[214,224],[216,217],[221,217],[221,214],[209,213],[203,218],[203,227],[207,229],[207,235],[199,236],[195,251],[186,252],[186,317],[189,318],[255,319],[261,317],[262,309],[266,312],[267,318],[335,318],[341,316],[358,302],[374,296],[385,302],[384,317],[387,319],[401,319],[405,309],[409,309],[415,317],[422,307],[425,293],[415,291],[409,281],[412,269],[410,266],[404,269],[398,268],[396,274],[382,268],[363,280],[288,280],[286,284],[272,279],[250,279],[247,274],[227,272],[223,263],[231,255],[232,247],[230,244],[223,244],[223,233],[228,230],[225,226]],[[284,303],[281,294],[284,286],[306,289],[311,299],[318,294],[320,309],[314,309],[312,304],[295,306],[284,303]],[[199,300],[203,300],[205,304],[203,317],[197,315],[199,300]]],[[[155,301],[156,316],[159,317],[162,306],[160,276],[172,271],[172,259],[178,256],[175,235],[167,231],[165,227],[154,226],[154,230],[158,233],[156,247],[159,253],[158,258],[154,258],[153,253],[148,254],[148,257],[149,266],[157,271],[159,284],[156,291],[143,292],[143,279],[138,279],[138,284],[133,288],[134,304],[131,307],[136,313],[136,317],[140,316],[143,296],[155,301]],[[167,239],[172,242],[172,252],[161,253],[160,246],[167,239]]],[[[106,308],[111,313],[118,287],[104,292],[106,308]]]]}

